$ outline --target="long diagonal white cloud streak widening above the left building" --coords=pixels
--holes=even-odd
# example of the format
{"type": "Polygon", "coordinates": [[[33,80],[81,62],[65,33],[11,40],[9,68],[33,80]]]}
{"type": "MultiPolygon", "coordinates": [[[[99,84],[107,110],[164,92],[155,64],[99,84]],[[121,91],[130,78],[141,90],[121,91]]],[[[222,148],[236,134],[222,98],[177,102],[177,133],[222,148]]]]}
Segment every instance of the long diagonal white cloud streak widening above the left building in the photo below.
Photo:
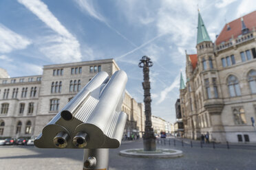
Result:
{"type": "Polygon", "coordinates": [[[39,17],[56,34],[39,38],[37,45],[42,53],[53,62],[81,61],[80,44],[76,38],[56,19],[40,0],[18,0],[39,17]]]}

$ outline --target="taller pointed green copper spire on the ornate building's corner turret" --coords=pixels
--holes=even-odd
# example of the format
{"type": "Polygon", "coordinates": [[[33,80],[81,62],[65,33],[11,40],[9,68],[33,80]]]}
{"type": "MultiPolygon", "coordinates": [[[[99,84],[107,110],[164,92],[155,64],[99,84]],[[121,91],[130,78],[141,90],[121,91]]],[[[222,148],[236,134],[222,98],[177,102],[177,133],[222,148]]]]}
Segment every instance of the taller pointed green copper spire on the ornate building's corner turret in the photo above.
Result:
{"type": "Polygon", "coordinates": [[[197,44],[204,41],[211,41],[211,39],[204,25],[204,21],[202,21],[202,16],[198,11],[198,42],[197,44]]]}

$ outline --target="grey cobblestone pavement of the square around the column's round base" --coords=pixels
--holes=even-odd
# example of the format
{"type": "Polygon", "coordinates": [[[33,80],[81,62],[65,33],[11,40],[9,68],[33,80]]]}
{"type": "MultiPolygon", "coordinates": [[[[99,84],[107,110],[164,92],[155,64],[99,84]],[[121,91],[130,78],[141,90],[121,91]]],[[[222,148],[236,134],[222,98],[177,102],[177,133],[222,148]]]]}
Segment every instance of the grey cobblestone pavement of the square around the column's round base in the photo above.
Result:
{"type": "MultiPolygon", "coordinates": [[[[168,141],[169,139],[167,139],[168,141]]],[[[180,149],[184,152],[181,158],[153,159],[128,158],[119,156],[122,149],[142,148],[142,140],[125,141],[118,149],[110,149],[109,170],[128,169],[256,169],[256,150],[193,146],[190,143],[173,145],[173,138],[165,143],[158,143],[158,148],[180,149]]],[[[176,139],[177,140],[177,139],[176,139]]],[[[204,145],[206,146],[206,145],[204,145]]],[[[33,146],[0,146],[1,170],[34,170],[34,169],[82,169],[83,149],[38,149],[33,146]]]]}

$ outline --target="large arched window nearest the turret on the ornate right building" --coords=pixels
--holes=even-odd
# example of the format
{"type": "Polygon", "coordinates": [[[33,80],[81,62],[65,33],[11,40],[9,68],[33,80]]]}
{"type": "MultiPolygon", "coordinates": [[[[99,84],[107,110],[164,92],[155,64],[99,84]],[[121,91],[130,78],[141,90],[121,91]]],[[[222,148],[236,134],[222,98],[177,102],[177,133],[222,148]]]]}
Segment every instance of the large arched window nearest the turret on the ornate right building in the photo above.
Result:
{"type": "Polygon", "coordinates": [[[240,88],[239,88],[239,82],[237,80],[237,77],[235,77],[234,75],[228,76],[228,90],[229,90],[229,95],[231,97],[241,95],[240,88]]]}

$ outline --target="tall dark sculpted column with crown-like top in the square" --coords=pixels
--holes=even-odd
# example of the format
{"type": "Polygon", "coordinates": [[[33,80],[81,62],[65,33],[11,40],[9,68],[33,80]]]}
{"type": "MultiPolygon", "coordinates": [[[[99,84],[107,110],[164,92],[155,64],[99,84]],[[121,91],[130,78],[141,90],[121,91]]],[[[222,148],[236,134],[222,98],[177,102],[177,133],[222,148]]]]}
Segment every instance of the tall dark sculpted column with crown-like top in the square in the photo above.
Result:
{"type": "Polygon", "coordinates": [[[153,62],[147,56],[143,56],[138,64],[143,68],[144,82],[142,86],[144,89],[144,103],[145,103],[145,133],[143,134],[144,151],[156,151],[156,138],[153,134],[153,127],[151,121],[151,97],[150,97],[150,82],[149,82],[149,67],[153,66],[153,62]]]}

